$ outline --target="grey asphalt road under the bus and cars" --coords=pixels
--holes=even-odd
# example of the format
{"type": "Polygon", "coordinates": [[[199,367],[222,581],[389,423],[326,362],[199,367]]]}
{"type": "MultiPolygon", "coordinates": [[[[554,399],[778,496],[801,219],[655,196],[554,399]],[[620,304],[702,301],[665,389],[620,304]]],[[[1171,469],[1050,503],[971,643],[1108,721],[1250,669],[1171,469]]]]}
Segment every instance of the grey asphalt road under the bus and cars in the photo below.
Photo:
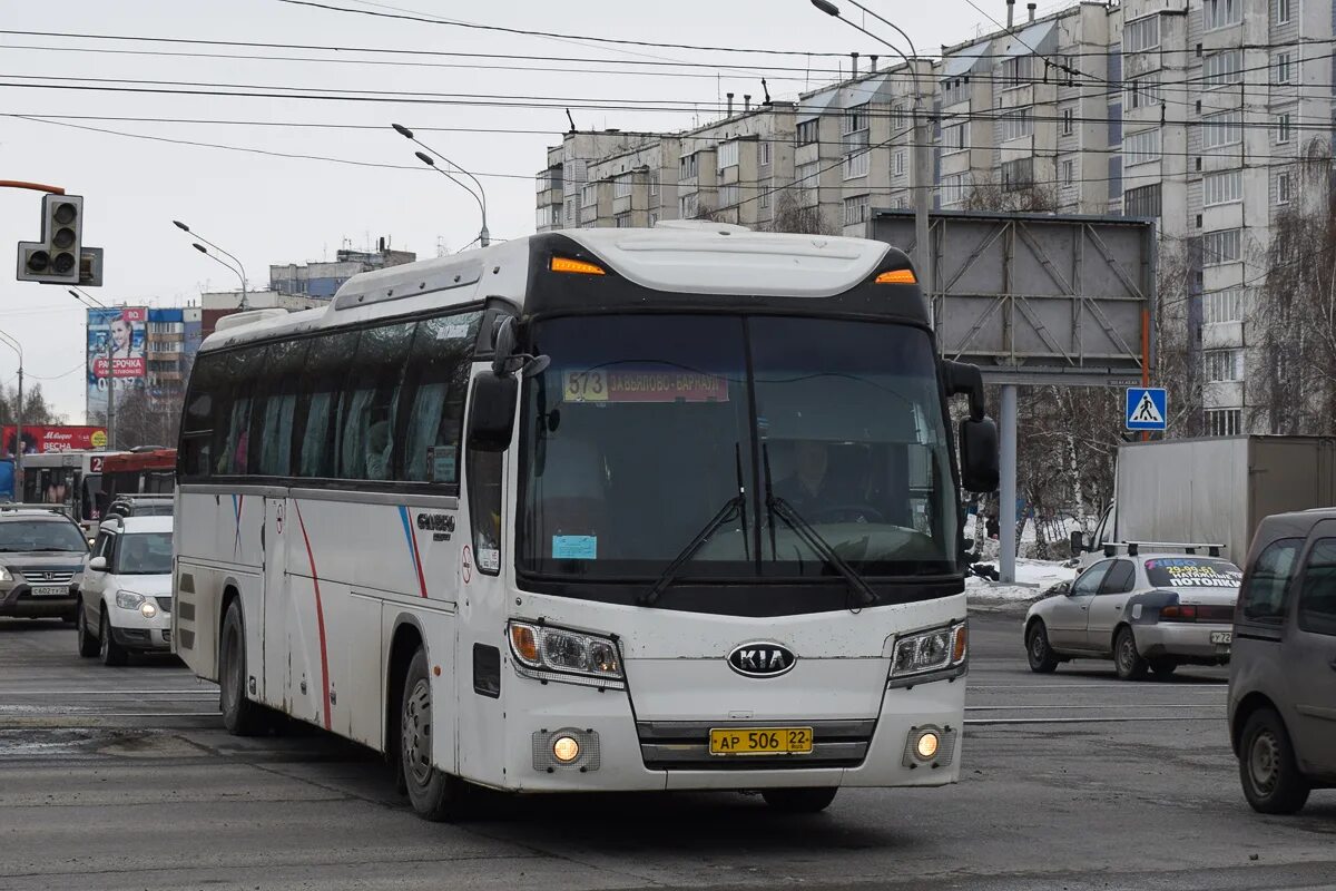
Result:
{"type": "Polygon", "coordinates": [[[1034,676],[1018,620],[971,618],[963,776],[755,796],[505,799],[418,820],[321,732],[235,739],[171,660],[104,668],[73,632],[0,620],[0,888],[1336,888],[1336,792],[1253,814],[1225,673],[1034,676]]]}

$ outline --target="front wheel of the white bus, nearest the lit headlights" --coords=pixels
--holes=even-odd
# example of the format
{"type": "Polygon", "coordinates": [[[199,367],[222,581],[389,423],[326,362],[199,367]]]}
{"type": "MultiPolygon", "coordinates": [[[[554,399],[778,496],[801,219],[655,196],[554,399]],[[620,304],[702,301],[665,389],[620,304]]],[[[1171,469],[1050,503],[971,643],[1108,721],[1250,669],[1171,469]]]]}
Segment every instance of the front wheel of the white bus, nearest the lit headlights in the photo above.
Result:
{"type": "Polygon", "coordinates": [[[432,679],[426,651],[418,647],[403,677],[399,704],[399,773],[417,815],[449,823],[462,815],[466,789],[462,780],[432,764],[432,679]]]}

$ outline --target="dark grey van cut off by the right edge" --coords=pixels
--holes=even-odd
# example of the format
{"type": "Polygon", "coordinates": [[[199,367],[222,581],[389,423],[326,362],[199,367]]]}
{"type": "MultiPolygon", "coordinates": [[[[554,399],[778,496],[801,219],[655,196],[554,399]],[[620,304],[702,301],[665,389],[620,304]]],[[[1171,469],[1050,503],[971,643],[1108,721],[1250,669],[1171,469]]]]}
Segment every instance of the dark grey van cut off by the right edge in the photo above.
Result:
{"type": "Polygon", "coordinates": [[[1267,517],[1234,612],[1229,740],[1248,803],[1336,787],[1336,509],[1267,517]]]}

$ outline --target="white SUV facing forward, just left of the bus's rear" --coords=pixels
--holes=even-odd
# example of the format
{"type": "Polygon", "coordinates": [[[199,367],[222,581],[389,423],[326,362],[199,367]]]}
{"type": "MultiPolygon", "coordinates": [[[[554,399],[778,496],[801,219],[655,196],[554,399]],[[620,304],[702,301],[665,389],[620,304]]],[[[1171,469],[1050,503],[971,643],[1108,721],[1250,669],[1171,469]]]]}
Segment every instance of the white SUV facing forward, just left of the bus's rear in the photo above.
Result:
{"type": "Polygon", "coordinates": [[[124,665],[171,651],[171,517],[114,517],[98,528],[79,580],[80,656],[124,665]]]}

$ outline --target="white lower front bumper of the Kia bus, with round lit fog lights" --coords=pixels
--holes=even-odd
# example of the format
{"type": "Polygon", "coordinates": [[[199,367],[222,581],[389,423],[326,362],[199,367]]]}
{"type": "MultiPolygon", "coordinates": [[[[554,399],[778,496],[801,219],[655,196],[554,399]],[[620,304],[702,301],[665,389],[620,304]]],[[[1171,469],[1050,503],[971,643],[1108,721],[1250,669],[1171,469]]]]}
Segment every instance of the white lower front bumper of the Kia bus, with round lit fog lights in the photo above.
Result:
{"type": "Polygon", "coordinates": [[[930,787],[959,779],[963,676],[886,689],[872,716],[820,720],[637,721],[625,691],[517,677],[509,692],[522,700],[512,715],[524,717],[508,727],[502,785],[522,792],[930,787]],[[748,728],[810,728],[811,751],[711,753],[711,731],[748,728]],[[933,740],[919,748],[925,735],[933,740]],[[562,763],[558,752],[576,755],[562,763]]]}

